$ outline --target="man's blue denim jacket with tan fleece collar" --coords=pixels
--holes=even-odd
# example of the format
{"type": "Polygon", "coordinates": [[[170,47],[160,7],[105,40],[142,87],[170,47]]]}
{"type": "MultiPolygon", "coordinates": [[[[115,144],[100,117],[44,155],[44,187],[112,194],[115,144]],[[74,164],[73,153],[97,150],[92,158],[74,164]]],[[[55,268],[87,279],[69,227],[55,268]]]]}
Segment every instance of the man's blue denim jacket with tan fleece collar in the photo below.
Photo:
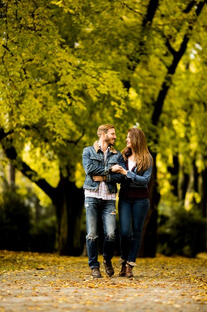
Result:
{"type": "Polygon", "coordinates": [[[125,167],[124,158],[119,151],[116,151],[112,146],[104,160],[104,153],[101,151],[98,141],[95,141],[93,146],[83,149],[82,163],[85,170],[84,189],[97,190],[100,182],[94,181],[92,175],[106,175],[105,181],[109,193],[117,193],[117,184],[123,179],[123,174],[109,172],[109,167],[120,164],[125,167]]]}

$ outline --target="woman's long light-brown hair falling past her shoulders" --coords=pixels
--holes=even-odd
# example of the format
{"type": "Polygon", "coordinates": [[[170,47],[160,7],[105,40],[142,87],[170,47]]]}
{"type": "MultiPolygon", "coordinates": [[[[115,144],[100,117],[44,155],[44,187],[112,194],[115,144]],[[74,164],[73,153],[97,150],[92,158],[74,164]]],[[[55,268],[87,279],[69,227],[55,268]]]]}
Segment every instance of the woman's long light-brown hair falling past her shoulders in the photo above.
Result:
{"type": "MultiPolygon", "coordinates": [[[[152,156],[150,155],[146,138],[143,131],[139,128],[131,128],[128,130],[132,148],[135,152],[135,162],[139,171],[144,171],[150,167],[152,164],[152,156]]],[[[128,160],[128,157],[132,155],[131,148],[125,148],[122,151],[122,155],[125,161],[128,160]]]]}

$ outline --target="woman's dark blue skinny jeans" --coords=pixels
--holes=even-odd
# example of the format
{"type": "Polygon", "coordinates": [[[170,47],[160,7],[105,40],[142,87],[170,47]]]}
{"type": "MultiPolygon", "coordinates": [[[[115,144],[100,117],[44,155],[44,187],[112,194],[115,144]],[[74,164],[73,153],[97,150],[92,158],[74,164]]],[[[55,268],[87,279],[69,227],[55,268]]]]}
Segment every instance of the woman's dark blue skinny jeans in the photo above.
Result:
{"type": "Polygon", "coordinates": [[[144,220],[149,210],[148,198],[119,198],[121,258],[136,262],[144,220]]]}

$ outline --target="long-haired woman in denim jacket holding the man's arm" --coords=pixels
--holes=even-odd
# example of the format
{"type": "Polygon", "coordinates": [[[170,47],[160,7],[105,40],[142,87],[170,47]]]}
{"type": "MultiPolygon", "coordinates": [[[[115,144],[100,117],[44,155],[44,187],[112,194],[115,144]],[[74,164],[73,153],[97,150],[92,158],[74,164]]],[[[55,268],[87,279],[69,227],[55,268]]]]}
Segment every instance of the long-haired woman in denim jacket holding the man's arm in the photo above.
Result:
{"type": "Polygon", "coordinates": [[[123,150],[126,168],[113,166],[125,175],[119,192],[119,224],[122,269],[119,276],[133,277],[133,268],[141,244],[144,220],[149,210],[147,184],[152,171],[152,156],[149,154],[146,138],[142,130],[131,128],[123,150]]]}

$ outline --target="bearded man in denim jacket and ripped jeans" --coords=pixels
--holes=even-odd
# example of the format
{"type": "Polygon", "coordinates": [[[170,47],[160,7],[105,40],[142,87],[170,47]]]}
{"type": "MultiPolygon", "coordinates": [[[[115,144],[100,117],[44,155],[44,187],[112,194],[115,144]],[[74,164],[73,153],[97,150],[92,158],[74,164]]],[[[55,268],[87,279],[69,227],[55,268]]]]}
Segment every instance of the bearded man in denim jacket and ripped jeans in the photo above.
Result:
{"type": "Polygon", "coordinates": [[[119,151],[113,148],[116,132],[113,125],[101,125],[97,135],[99,141],[83,150],[82,162],[86,173],[85,190],[86,247],[88,265],[93,278],[102,277],[98,262],[98,220],[101,216],[104,228],[103,265],[108,276],[114,275],[111,259],[114,256],[116,229],[117,184],[123,175],[113,172],[113,166],[125,167],[119,151]]]}

